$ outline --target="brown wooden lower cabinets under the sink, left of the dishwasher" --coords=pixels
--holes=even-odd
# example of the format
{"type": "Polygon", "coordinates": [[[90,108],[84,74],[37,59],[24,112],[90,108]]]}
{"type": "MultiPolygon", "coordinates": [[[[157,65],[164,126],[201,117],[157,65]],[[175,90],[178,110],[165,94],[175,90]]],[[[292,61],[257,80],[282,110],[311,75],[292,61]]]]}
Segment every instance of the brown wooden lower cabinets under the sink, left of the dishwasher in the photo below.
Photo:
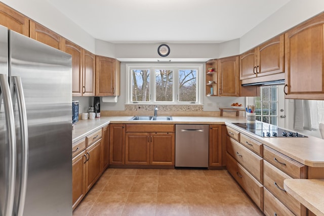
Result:
{"type": "Polygon", "coordinates": [[[110,124],[109,165],[174,165],[174,124],[110,124]]]}

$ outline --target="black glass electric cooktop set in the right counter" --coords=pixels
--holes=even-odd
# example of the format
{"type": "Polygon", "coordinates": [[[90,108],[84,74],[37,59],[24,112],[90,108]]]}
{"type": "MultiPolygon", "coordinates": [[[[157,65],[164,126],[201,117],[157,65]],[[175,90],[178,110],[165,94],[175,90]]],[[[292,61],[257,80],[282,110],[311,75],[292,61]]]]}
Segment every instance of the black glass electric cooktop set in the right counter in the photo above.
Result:
{"type": "Polygon", "coordinates": [[[247,131],[254,133],[260,137],[306,137],[300,135],[297,132],[288,131],[277,127],[276,125],[268,124],[262,121],[256,121],[255,123],[233,123],[236,126],[246,129],[247,131]]]}

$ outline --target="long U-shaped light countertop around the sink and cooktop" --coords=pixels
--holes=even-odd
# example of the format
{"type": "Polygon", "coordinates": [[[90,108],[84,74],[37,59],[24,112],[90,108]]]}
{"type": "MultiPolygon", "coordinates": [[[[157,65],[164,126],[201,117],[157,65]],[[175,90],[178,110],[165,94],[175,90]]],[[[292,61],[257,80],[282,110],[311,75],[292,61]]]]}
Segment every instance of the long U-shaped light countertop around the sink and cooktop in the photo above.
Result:
{"type": "Polygon", "coordinates": [[[308,138],[268,138],[259,137],[246,131],[231,122],[246,122],[245,117],[198,117],[198,116],[172,116],[171,121],[135,120],[132,116],[102,116],[96,119],[79,120],[72,131],[72,143],[88,136],[97,129],[109,123],[158,123],[158,124],[226,124],[237,131],[247,134],[266,146],[285,154],[294,160],[313,167],[324,167],[324,140],[309,136],[308,138]]]}

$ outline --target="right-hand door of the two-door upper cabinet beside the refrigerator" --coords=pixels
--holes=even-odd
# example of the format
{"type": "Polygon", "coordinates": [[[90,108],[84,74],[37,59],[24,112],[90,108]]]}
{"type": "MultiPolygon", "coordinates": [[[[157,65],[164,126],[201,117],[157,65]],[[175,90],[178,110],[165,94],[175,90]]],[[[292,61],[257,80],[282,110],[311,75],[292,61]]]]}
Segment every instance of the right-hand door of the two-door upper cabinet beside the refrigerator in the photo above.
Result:
{"type": "Polygon", "coordinates": [[[95,55],[83,50],[83,96],[95,96],[95,55]]]}

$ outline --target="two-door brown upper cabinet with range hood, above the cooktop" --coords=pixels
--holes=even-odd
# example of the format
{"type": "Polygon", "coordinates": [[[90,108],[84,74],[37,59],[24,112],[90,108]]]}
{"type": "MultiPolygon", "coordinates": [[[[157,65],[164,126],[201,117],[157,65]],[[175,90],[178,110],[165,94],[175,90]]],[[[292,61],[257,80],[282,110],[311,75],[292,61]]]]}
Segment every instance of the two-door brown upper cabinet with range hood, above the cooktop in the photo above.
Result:
{"type": "Polygon", "coordinates": [[[280,73],[284,73],[284,34],[240,55],[242,84],[284,79],[280,73]]]}

